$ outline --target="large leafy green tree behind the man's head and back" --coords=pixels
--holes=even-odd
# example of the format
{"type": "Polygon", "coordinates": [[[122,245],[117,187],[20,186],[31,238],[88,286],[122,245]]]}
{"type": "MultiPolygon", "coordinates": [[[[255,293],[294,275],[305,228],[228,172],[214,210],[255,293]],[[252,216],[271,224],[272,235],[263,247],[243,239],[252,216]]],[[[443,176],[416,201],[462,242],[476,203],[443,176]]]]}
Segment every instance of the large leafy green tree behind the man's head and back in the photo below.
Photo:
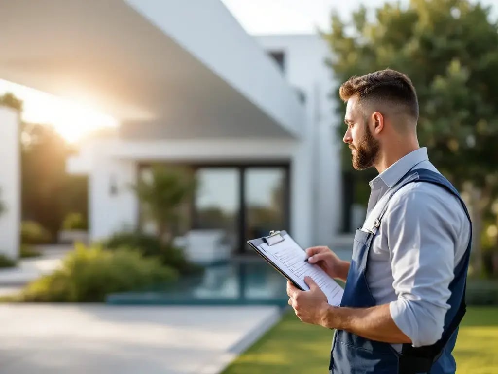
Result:
{"type": "Polygon", "coordinates": [[[420,144],[471,200],[474,268],[480,271],[482,217],[498,182],[497,22],[490,8],[468,0],[411,0],[369,15],[365,7],[352,22],[332,15],[324,35],[332,51],[328,63],[338,83],[387,67],[410,76],[419,98],[420,144]]]}

